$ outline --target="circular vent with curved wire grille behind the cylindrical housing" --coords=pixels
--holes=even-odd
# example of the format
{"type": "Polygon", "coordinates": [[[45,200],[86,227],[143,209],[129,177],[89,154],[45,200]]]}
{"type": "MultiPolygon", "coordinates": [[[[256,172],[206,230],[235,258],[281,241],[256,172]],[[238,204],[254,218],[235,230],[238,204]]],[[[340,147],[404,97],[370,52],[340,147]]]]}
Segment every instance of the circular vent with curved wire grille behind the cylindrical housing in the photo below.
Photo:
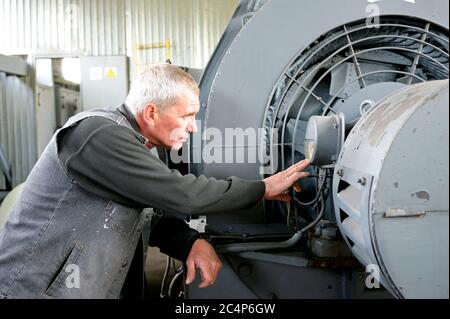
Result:
{"type": "MultiPolygon", "coordinates": [[[[299,52],[285,69],[263,123],[263,143],[277,149],[271,155],[274,170],[305,158],[304,138],[311,116],[343,113],[349,133],[371,106],[393,92],[448,78],[448,30],[414,18],[384,16],[381,21],[376,26],[366,25],[365,20],[343,25],[299,52]]],[[[318,177],[315,182],[302,181],[304,193],[309,191],[316,198],[305,198],[310,204],[319,202],[320,193],[330,184],[325,174],[318,177]]],[[[294,203],[308,206],[298,198],[294,203]]],[[[290,213],[292,207],[283,210],[290,213]]],[[[326,210],[326,216],[333,215],[332,207],[326,210]]]]}

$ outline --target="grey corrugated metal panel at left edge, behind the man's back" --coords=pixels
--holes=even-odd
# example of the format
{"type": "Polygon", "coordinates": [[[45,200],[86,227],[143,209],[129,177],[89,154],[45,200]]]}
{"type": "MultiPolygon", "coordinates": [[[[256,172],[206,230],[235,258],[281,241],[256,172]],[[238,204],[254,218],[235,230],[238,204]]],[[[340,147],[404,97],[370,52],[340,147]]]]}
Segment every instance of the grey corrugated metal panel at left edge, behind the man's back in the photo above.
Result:
{"type": "Polygon", "coordinates": [[[13,186],[36,162],[35,136],[33,91],[22,78],[0,73],[0,144],[12,164],[13,186]]]}

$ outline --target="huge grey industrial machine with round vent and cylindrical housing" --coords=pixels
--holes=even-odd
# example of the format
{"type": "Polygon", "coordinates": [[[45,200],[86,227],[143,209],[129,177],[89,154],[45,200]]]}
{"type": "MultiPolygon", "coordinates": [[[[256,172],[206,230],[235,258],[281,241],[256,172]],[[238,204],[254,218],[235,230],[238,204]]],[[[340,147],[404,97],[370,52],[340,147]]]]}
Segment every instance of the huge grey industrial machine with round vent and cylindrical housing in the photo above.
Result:
{"type": "Polygon", "coordinates": [[[256,180],[308,158],[311,175],[289,203],[193,216],[224,265],[186,297],[448,298],[448,6],[241,1],[188,170],[256,180]],[[205,138],[230,128],[260,134],[205,138]]]}

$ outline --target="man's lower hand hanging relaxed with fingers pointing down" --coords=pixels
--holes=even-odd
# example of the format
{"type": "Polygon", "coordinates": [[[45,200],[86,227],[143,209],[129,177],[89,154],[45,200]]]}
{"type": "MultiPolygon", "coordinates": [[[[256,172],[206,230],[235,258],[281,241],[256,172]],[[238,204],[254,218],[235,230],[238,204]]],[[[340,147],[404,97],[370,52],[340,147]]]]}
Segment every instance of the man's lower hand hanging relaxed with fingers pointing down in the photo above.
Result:
{"type": "Polygon", "coordinates": [[[192,245],[189,252],[188,259],[186,261],[187,275],[186,284],[189,285],[195,279],[195,269],[200,269],[200,276],[202,282],[198,286],[199,288],[206,288],[214,284],[220,269],[222,268],[222,262],[217,256],[213,246],[211,246],[204,239],[197,239],[192,245]]]}

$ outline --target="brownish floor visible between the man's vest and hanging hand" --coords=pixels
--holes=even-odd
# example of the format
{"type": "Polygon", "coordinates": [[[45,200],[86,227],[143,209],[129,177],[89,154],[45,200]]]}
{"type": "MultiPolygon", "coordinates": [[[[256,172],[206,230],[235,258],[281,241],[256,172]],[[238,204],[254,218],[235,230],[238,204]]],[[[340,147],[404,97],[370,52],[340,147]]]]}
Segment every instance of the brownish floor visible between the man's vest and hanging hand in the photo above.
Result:
{"type": "MultiPolygon", "coordinates": [[[[147,253],[147,261],[145,264],[145,275],[147,278],[148,292],[146,298],[160,299],[161,283],[166,268],[167,255],[162,254],[159,248],[149,247],[147,253]]],[[[178,269],[183,264],[180,261],[175,261],[175,266],[178,269]]],[[[167,286],[175,275],[173,267],[169,272],[167,286]]]]}

